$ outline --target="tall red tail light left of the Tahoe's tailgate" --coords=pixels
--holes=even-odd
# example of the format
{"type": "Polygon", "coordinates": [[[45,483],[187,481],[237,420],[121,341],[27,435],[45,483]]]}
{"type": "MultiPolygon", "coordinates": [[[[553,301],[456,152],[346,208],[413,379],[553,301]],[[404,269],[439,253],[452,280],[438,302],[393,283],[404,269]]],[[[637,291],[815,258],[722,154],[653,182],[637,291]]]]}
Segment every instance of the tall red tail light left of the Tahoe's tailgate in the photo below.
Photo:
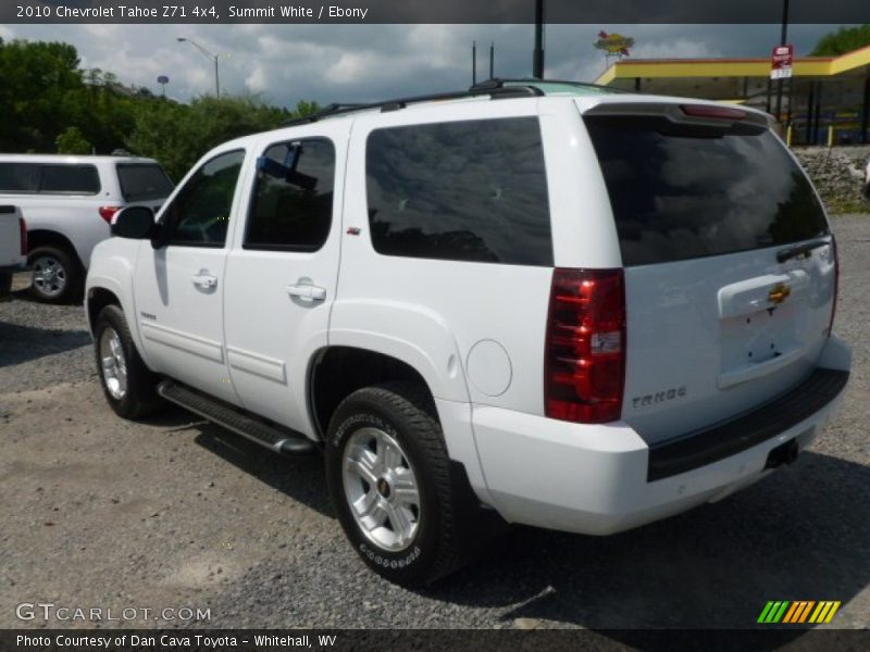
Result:
{"type": "Polygon", "coordinates": [[[544,361],[546,415],[584,424],[617,421],[624,384],[622,269],[554,269],[544,361]]]}

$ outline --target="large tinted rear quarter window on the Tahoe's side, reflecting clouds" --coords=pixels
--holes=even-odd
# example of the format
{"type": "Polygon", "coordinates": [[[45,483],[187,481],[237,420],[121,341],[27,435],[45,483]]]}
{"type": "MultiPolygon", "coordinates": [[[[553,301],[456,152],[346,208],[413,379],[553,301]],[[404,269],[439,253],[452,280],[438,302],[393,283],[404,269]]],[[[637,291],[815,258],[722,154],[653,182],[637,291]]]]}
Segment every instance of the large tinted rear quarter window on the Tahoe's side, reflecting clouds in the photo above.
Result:
{"type": "Polygon", "coordinates": [[[381,253],[552,264],[537,118],[373,131],[366,184],[372,242],[381,253]]]}

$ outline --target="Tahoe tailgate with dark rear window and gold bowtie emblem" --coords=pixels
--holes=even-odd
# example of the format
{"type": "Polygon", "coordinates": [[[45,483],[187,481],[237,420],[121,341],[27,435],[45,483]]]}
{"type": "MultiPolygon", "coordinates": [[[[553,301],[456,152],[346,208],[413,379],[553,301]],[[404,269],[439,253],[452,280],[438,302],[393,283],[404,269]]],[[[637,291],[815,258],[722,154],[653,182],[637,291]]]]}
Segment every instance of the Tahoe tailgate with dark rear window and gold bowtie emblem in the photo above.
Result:
{"type": "Polygon", "coordinates": [[[835,293],[824,211],[782,141],[749,113],[687,111],[584,116],[625,267],[623,419],[650,442],[799,383],[835,293]]]}

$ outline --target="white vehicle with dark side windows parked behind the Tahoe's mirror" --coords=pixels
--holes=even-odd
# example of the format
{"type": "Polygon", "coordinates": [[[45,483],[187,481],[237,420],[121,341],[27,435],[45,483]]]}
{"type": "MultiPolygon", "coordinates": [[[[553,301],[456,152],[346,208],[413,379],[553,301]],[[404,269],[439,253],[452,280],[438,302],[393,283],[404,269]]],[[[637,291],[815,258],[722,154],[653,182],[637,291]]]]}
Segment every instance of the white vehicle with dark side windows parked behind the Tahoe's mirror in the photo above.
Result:
{"type": "Polygon", "coordinates": [[[90,252],[127,205],[154,210],[172,183],[152,159],[0,154],[0,202],[21,208],[29,228],[32,292],[49,303],[78,296],[90,252]]]}

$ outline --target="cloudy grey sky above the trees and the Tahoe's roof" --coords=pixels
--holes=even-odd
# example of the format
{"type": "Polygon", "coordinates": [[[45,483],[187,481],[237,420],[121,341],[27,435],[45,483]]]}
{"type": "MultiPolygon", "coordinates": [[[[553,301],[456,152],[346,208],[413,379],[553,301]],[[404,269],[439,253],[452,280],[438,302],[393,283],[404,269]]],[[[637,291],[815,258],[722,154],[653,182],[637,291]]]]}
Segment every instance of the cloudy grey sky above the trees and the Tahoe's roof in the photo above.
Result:
{"type": "MultiPolygon", "coordinates": [[[[807,54],[837,25],[792,25],[788,40],[807,54]]],[[[632,55],[768,57],[779,25],[552,25],[546,30],[550,78],[594,80],[605,68],[592,46],[599,29],[635,39],[632,55]]],[[[3,39],[74,45],[85,67],[115,73],[122,83],[182,101],[213,91],[210,61],[178,37],[196,40],[220,60],[222,91],[256,93],[293,105],[298,100],[359,102],[458,89],[471,82],[471,42],[477,41],[478,79],[531,73],[531,25],[0,25],[3,39]]]]}

